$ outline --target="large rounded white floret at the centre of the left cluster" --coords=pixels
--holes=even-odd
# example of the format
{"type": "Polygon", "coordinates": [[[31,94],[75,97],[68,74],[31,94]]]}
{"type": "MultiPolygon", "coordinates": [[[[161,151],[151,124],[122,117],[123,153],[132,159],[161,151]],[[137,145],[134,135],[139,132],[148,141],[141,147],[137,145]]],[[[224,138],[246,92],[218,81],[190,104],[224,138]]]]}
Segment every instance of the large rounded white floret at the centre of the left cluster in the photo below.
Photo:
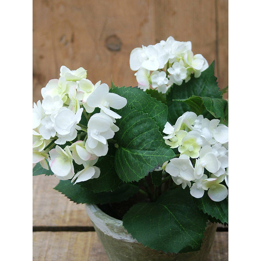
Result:
{"type": "Polygon", "coordinates": [[[80,108],[75,114],[69,110],[68,108],[62,107],[57,115],[55,116],[55,131],[59,135],[67,135],[70,133],[72,136],[75,132],[75,129],[81,130],[77,124],[81,120],[81,114],[83,112],[83,108],[80,108]]]}

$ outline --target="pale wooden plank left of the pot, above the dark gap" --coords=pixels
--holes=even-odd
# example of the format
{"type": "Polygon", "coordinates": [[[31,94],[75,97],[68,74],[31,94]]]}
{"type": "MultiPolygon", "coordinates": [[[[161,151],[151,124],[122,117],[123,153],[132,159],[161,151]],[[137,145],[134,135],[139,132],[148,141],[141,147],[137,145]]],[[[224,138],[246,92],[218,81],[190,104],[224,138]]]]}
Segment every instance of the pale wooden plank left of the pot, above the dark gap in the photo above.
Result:
{"type": "Polygon", "coordinates": [[[53,188],[55,176],[33,177],[33,226],[93,226],[84,204],[75,204],[53,188]]]}

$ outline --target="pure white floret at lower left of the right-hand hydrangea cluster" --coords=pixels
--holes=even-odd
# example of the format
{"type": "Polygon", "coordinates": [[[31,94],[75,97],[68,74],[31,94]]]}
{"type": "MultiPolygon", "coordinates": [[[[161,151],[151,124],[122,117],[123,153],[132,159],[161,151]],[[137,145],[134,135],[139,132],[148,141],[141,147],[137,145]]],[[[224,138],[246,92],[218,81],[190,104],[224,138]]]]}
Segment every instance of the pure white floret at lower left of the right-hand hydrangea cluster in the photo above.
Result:
{"type": "Polygon", "coordinates": [[[181,177],[184,180],[194,180],[194,168],[186,155],[180,155],[179,158],[170,160],[165,171],[173,177],[181,177]]]}

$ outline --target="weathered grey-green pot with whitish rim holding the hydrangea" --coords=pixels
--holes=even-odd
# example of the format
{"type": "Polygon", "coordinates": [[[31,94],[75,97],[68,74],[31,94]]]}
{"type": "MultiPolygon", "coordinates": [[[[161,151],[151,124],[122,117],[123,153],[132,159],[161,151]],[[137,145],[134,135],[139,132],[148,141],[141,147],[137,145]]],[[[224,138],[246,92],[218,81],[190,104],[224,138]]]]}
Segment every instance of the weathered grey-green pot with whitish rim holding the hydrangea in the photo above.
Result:
{"type": "Polygon", "coordinates": [[[121,220],[105,214],[95,204],[86,204],[86,211],[108,258],[113,261],[208,260],[217,227],[217,223],[208,223],[199,251],[171,254],[144,247],[128,234],[121,220]]]}

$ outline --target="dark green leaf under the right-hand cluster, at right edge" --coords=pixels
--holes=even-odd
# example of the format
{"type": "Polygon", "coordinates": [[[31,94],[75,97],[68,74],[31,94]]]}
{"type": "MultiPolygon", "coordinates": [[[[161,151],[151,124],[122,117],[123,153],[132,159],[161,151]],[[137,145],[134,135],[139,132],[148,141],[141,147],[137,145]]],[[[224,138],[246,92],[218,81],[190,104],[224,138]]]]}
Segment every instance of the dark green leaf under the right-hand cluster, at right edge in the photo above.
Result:
{"type": "Polygon", "coordinates": [[[228,197],[220,202],[215,202],[205,193],[202,198],[193,198],[193,200],[205,214],[220,220],[222,224],[228,224],[228,197]]]}

